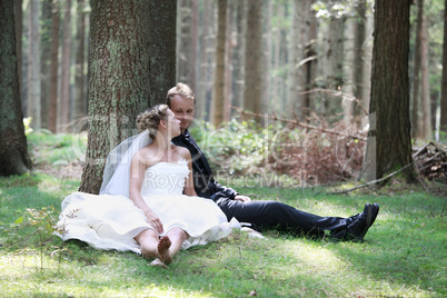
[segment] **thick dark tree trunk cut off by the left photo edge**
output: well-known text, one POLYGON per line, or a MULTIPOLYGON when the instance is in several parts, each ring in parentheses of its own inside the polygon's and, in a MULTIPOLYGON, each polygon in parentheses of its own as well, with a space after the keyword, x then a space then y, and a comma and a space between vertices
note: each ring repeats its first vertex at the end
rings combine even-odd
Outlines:
POLYGON ((0 176, 31 169, 16 57, 14 2, 0 1, 0 176))

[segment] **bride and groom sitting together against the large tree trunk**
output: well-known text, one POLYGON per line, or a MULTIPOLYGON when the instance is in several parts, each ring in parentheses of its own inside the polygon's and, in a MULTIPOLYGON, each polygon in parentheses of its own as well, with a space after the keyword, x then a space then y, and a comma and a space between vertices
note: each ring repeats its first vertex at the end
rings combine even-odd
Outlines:
POLYGON ((74 192, 62 201, 58 222, 63 240, 99 249, 131 250, 166 267, 183 248, 228 236, 239 222, 362 240, 379 206, 367 203, 349 218, 320 217, 278 201, 251 201, 216 181, 205 155, 189 135, 196 98, 178 83, 167 105, 137 117, 140 133, 108 157, 100 195, 74 192))

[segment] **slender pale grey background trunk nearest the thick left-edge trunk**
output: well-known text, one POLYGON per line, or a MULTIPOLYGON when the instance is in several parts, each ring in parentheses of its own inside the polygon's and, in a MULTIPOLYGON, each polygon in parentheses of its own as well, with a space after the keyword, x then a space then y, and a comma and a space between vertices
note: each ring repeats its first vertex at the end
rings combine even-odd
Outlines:
POLYGON ((29 22, 29 88, 28 116, 32 117, 31 127, 40 129, 40 34, 39 34, 39 0, 31 0, 29 22))

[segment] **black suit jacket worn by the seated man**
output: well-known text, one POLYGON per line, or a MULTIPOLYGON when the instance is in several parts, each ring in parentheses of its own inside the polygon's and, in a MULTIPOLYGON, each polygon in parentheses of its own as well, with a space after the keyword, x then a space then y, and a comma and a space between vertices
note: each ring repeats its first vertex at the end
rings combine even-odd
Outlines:
POLYGON ((235 197, 239 195, 239 192, 232 188, 225 187, 215 180, 207 158, 188 130, 185 130, 182 135, 173 138, 172 142, 187 148, 191 153, 193 183, 199 197, 218 201, 220 198, 235 199, 235 197))

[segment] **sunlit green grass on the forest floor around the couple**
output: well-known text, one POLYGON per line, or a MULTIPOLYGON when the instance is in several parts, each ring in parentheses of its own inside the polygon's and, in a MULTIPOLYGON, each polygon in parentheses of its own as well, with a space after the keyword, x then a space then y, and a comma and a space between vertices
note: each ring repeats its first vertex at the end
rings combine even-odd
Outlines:
POLYGON ((160 269, 132 252, 50 235, 61 200, 78 186, 43 173, 0 178, 0 297, 447 296, 446 199, 418 187, 337 196, 328 188, 238 188, 324 216, 347 217, 371 201, 380 213, 361 244, 235 232, 160 269))

